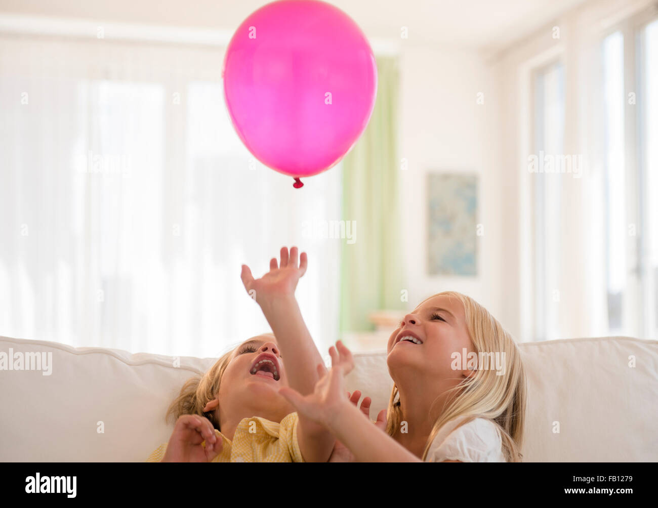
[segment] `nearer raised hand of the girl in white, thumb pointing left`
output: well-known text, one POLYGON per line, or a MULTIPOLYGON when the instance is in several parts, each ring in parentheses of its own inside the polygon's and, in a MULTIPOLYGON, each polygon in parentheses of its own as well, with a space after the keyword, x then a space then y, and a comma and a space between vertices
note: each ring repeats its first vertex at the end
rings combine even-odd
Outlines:
POLYGON ((340 340, 336 342, 336 347, 329 348, 329 354, 332 368, 327 371, 322 363, 318 364, 320 379, 315 384, 313 394, 303 397, 293 388, 286 386, 279 389, 279 393, 300 415, 325 426, 330 426, 332 418, 340 413, 344 405, 349 406, 349 399, 345 399, 345 375, 354 368, 352 353, 340 340))

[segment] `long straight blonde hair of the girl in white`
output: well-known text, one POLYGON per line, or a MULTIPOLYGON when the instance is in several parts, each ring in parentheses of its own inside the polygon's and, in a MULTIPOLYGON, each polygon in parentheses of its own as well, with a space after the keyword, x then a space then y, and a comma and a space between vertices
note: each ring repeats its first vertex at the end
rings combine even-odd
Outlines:
MULTIPOLYGON (((434 422, 422 459, 426 459, 432 441, 447 422, 464 417, 461 422, 463 425, 481 417, 493 420, 497 424, 507 462, 520 462, 527 387, 519 347, 489 311, 474 299, 453 291, 437 293, 430 298, 436 296, 453 297, 461 301, 468 334, 476 353, 504 352, 505 373, 498 376, 495 370, 478 369, 473 376, 465 378, 449 390, 453 393, 434 422)), ((386 432, 393 436, 400 428, 402 420, 399 392, 395 384, 386 416, 388 419, 386 432)))

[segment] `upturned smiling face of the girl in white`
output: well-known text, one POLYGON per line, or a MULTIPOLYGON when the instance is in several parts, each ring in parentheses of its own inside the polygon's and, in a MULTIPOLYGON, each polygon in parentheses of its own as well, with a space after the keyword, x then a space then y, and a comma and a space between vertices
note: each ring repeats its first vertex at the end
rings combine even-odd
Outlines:
POLYGON ((451 355, 475 351, 468 335, 464 307, 454 297, 436 295, 405 315, 388 340, 387 363, 393 380, 396 372, 413 368, 418 376, 455 384, 470 371, 453 370, 451 355))

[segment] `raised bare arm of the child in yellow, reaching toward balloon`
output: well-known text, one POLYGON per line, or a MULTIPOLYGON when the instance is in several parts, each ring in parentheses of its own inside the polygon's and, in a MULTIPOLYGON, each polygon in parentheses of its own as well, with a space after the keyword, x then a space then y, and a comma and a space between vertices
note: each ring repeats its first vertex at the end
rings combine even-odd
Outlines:
MULTIPOLYGON (((286 365, 290 386, 300 394, 311 394, 319 379, 316 365, 322 363, 313 338, 309 333, 299 305, 295 299, 295 288, 307 268, 306 253, 298 249, 282 247, 280 263, 270 261, 270 271, 254 279, 247 265, 242 265, 241 278, 245 289, 261 306, 267 322, 276 336, 281 356, 286 365)), ((299 415, 297 426, 299 448, 307 462, 326 462, 334 448, 334 436, 324 426, 299 415)))

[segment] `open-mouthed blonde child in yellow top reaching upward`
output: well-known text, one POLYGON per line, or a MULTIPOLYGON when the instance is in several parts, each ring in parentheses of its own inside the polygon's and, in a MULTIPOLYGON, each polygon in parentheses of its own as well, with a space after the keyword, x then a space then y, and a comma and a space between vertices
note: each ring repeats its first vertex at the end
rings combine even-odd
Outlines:
POLYGON ((243 265, 241 278, 256 295, 274 334, 253 337, 223 355, 201 377, 188 380, 167 416, 176 426, 152 462, 326 462, 335 439, 282 397, 280 387, 311 393, 321 361, 295 301, 295 288, 307 268, 297 247, 283 247, 280 263, 254 279, 243 265), (299 262, 299 264, 298 264, 299 262), (279 340, 277 340, 279 339, 279 340), (285 359, 285 364, 284 364, 285 359))

